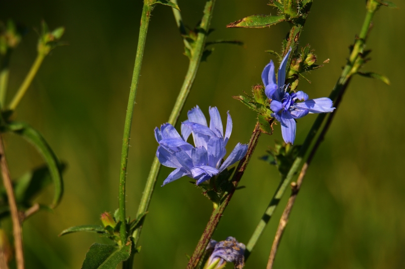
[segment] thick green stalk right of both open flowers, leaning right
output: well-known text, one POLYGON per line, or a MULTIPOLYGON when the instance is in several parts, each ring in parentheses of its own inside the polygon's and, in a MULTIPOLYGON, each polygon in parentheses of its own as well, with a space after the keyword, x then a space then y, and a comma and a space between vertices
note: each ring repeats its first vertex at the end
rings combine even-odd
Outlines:
MULTIPOLYGON (((342 95, 347 88, 351 77, 357 73, 358 71, 358 66, 355 65, 356 60, 358 59, 360 53, 363 52, 364 49, 364 44, 367 39, 367 35, 369 32, 369 29, 371 27, 371 21, 373 19, 373 16, 377 9, 368 9, 368 12, 366 14, 366 19, 363 23, 363 26, 361 28, 361 32, 359 37, 354 43, 353 50, 350 54, 349 60, 344 67, 342 74, 339 77, 339 80, 337 81, 335 87, 333 88, 331 94, 329 95, 329 98, 333 100, 333 102, 340 102, 340 99, 342 98, 342 95)), ((245 259, 249 257, 251 254, 253 248, 255 247, 257 241, 259 240, 261 234, 263 233, 267 223, 270 221, 272 214, 277 207, 280 199, 282 198, 282 195, 285 193, 286 189, 289 186, 289 183, 291 179, 296 175, 298 169, 300 168, 300 165, 302 163, 302 160, 305 156, 305 154, 308 152, 309 149, 311 149, 311 143, 313 139, 316 137, 316 134, 318 133, 323 120, 327 117, 327 114, 319 114, 318 117, 316 118, 315 122, 313 123, 303 145, 301 146, 300 152, 298 156, 296 157, 292 167, 289 170, 289 173, 287 174, 286 178, 282 179, 280 182, 280 185, 276 189, 273 197, 271 198, 271 201, 269 205, 267 206, 263 217, 261 218, 259 224, 257 225, 255 231, 253 232, 248 244, 246 245, 246 252, 245 252, 245 259)))

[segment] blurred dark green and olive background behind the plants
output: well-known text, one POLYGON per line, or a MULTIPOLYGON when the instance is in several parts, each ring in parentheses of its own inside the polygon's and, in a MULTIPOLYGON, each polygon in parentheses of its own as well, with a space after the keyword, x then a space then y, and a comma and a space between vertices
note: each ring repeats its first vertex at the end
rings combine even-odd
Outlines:
MULTIPOLYGON (((383 73, 391 86, 355 77, 338 115, 304 181, 276 257, 275 268, 404 268, 405 267, 405 121, 403 65, 404 3, 381 9, 368 42, 372 61, 365 70, 383 73), (402 93, 401 93, 402 92, 402 93)), ((185 24, 194 27, 203 0, 179 0, 185 24)), ((231 98, 261 83, 262 68, 278 50, 288 24, 265 29, 227 29, 225 25, 253 14, 275 13, 267 1, 218 0, 209 40, 237 39, 244 46, 221 44, 202 63, 180 120, 198 104, 218 106, 223 119, 230 111, 233 133, 228 152, 247 143, 255 114, 231 98)), ((99 224, 103 211, 117 206, 118 173, 129 86, 135 59, 142 1, 58 0, 1 1, 0 19, 29 28, 11 60, 9 99, 36 56, 42 19, 51 29, 65 26, 62 40, 45 62, 16 117, 40 130, 57 155, 68 163, 65 195, 55 213, 40 212, 24 224, 27 268, 79 268, 87 249, 102 239, 94 234, 57 235, 65 228, 99 224)), ((365 1, 315 1, 301 44, 310 43, 318 60, 330 59, 312 72, 300 89, 310 97, 328 96, 359 32, 365 1)), ((157 143, 153 128, 167 121, 187 70, 183 43, 172 11, 158 6, 152 13, 138 89, 128 168, 127 208, 135 217, 157 143)), ((296 143, 302 143, 315 116, 298 122, 296 143)), ((214 234, 247 243, 278 185, 279 175, 259 157, 280 140, 263 135, 241 185, 214 234)), ((35 150, 20 138, 6 136, 13 177, 42 164, 35 150)), ((142 232, 136 268, 183 268, 212 205, 187 179, 159 187, 170 173, 164 168, 142 232)), ((52 187, 48 195, 52 195, 52 187)), ((264 268, 282 207, 260 239, 246 268, 264 268)), ((39 199, 49 199, 47 195, 39 199)), ((231 265, 227 267, 231 268, 231 265)))

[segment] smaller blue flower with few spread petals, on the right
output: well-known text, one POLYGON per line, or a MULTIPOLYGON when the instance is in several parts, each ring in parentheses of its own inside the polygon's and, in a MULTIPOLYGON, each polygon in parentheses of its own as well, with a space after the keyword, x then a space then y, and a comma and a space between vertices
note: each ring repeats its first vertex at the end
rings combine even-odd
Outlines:
POLYGON ((312 113, 332 112, 335 107, 332 107, 332 100, 327 97, 308 100, 308 94, 303 91, 287 92, 288 85, 285 85, 286 67, 290 52, 291 48, 284 59, 282 59, 278 68, 277 84, 275 83, 273 61, 270 61, 263 69, 262 80, 266 87, 264 93, 267 98, 271 99, 270 109, 274 112, 271 114, 271 117, 274 117, 281 123, 282 139, 286 143, 293 144, 296 131, 295 119, 312 113), (304 101, 297 102, 298 100, 304 101))

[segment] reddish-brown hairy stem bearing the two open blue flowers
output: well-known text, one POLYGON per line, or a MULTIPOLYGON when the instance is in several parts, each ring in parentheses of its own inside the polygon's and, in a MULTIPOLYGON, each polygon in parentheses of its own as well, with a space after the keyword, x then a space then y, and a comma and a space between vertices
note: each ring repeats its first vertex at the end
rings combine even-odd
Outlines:
MULTIPOLYGON (((306 18, 309 14, 310 7, 307 9, 307 13, 303 14, 302 20, 300 21, 300 24, 295 24, 290 30, 289 33, 289 38, 287 42, 287 46, 285 51, 282 53, 282 56, 287 55, 287 52, 289 48, 292 48, 292 51, 295 51, 295 49, 298 46, 298 40, 301 35, 302 29, 304 27, 306 18)), ((291 53, 288 63, 291 63, 293 57, 293 53, 291 53)), ((256 148, 256 145, 259 141, 259 137, 261 134, 260 128, 258 127, 259 124, 257 123, 255 126, 255 129, 252 133, 249 146, 248 146, 248 153, 244 158, 242 158, 236 168, 235 174, 232 176, 232 182, 233 182, 233 188, 229 192, 225 192, 224 197, 222 199, 222 202, 219 204, 217 208, 214 209, 214 211, 211 214, 210 220, 207 223, 207 226, 203 232, 203 235, 201 235, 201 238, 199 239, 197 246, 195 247, 194 253, 192 254, 188 264, 187 264, 187 269, 193 269, 195 268, 199 260, 203 257, 205 248, 207 247, 208 243, 210 242, 210 239, 218 226, 218 223, 222 217, 222 213, 224 212, 226 206, 228 205, 230 199, 232 198, 232 195, 234 191, 236 190, 236 187, 245 173, 245 169, 249 164, 250 157, 253 154, 253 151, 256 148)))

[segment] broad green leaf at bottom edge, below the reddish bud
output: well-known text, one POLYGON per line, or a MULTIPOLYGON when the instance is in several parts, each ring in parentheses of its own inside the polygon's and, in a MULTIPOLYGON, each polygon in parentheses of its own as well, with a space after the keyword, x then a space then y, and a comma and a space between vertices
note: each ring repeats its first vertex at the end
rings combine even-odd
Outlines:
POLYGON ((82 269, 115 269, 131 254, 131 241, 123 247, 94 243, 86 253, 82 269))

